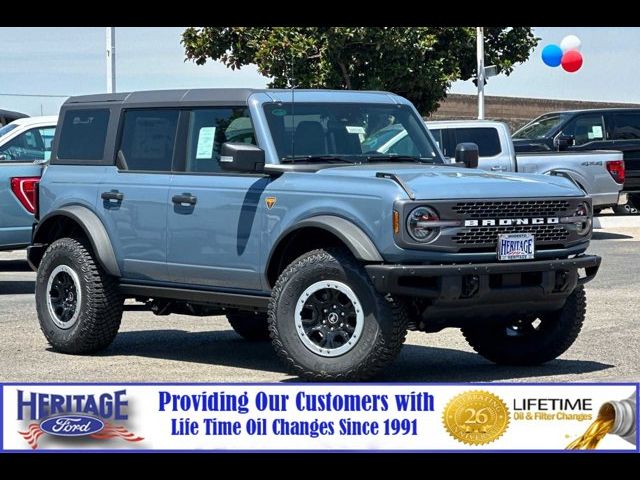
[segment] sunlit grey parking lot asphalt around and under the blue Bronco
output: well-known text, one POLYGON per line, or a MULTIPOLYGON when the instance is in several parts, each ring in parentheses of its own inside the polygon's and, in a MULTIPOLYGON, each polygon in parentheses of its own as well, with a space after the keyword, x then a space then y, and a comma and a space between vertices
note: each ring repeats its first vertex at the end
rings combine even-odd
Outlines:
MULTIPOLYGON (((624 222, 623 222, 624 225, 624 222)), ((587 285, 578 340, 538 367, 496 366, 458 330, 409 332, 384 382, 637 382, 640 380, 640 228, 597 230, 590 248, 603 264, 587 285)), ((224 317, 158 317, 128 303, 104 352, 53 352, 38 327, 33 273, 24 252, 0 253, 0 381, 280 382, 295 380, 267 343, 250 343, 224 317)))

